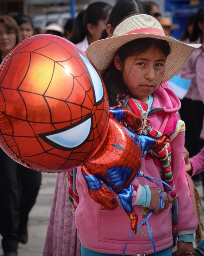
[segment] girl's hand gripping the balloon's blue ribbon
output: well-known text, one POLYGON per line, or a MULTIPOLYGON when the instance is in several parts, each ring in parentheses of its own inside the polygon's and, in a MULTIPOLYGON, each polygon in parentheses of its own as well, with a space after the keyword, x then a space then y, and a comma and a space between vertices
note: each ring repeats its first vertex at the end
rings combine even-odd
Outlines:
MULTIPOLYGON (((170 197, 170 195, 168 195, 167 197, 163 197, 163 202, 164 202, 164 208, 161 208, 161 205, 159 203, 158 208, 155 210, 155 208, 157 207, 157 204, 159 202, 159 192, 157 188, 151 188, 151 201, 150 201, 150 206, 148 207, 151 210, 154 210, 155 213, 159 214, 160 212, 163 212, 165 209, 169 208, 169 203, 171 203, 173 200, 170 197)), ((166 195, 166 192, 162 192, 162 195, 166 195)))

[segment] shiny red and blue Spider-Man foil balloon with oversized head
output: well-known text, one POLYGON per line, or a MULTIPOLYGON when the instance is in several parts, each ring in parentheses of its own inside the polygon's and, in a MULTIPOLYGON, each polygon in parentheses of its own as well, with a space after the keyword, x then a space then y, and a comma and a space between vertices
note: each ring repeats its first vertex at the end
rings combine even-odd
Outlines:
POLYGON ((35 35, 17 45, 1 65, 1 148, 41 172, 82 165, 90 197, 113 210, 118 202, 109 190, 116 192, 134 232, 132 182, 147 149, 161 148, 168 140, 138 136, 122 125, 137 130, 140 121, 122 106, 112 108, 109 118, 100 74, 66 39, 35 35))

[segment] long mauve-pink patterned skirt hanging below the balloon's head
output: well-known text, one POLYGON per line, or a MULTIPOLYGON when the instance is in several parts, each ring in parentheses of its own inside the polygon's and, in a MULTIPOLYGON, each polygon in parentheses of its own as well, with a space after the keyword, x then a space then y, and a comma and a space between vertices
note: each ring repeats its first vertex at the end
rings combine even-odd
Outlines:
POLYGON ((65 173, 57 175, 43 256, 80 256, 81 243, 71 211, 65 173))

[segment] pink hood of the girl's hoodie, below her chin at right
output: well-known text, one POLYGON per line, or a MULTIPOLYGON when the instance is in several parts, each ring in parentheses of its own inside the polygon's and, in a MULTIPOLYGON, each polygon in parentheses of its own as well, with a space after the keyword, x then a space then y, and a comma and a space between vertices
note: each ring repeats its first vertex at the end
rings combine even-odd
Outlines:
POLYGON ((157 90, 153 92, 154 102, 152 110, 155 108, 163 108, 165 112, 176 113, 181 103, 175 93, 167 87, 159 86, 157 90))

